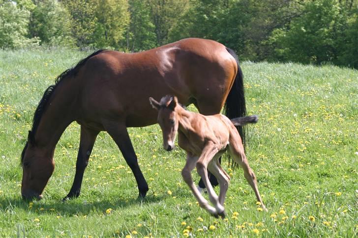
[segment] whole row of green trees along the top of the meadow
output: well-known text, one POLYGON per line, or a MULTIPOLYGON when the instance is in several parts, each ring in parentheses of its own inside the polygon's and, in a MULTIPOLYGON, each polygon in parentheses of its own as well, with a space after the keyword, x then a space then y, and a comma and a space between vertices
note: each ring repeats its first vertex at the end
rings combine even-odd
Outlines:
POLYGON ((139 52, 186 37, 245 60, 358 68, 358 0, 0 0, 0 48, 139 52))

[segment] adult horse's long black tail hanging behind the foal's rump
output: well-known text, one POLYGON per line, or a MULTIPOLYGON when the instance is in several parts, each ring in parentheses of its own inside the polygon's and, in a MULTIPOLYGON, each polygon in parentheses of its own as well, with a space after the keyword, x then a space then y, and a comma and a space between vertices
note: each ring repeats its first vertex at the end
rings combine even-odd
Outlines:
MULTIPOLYGON (((236 74, 235 81, 230 89, 229 95, 226 98, 226 102, 224 105, 224 114, 229 119, 244 117, 246 116, 246 104, 243 88, 243 74, 239 66, 239 58, 233 50, 229 48, 226 48, 226 50, 235 58, 236 63, 238 65, 238 73, 236 74)), ((245 130, 242 127, 243 125, 237 126, 239 134, 241 136, 242 144, 245 148, 245 130)))

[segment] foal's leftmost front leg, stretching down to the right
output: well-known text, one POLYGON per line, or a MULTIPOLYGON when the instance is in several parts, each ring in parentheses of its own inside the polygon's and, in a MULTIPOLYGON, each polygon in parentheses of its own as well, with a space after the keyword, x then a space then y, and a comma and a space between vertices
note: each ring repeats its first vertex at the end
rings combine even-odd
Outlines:
POLYGON ((181 170, 181 176, 183 177, 184 182, 190 187, 196 200, 198 200, 200 207, 204 208, 210 214, 215 216, 216 209, 209 205, 209 202, 203 197, 198 188, 194 185, 193 179, 191 177, 191 171, 195 168, 197 160, 198 157, 193 157, 192 155, 187 154, 185 166, 181 170))

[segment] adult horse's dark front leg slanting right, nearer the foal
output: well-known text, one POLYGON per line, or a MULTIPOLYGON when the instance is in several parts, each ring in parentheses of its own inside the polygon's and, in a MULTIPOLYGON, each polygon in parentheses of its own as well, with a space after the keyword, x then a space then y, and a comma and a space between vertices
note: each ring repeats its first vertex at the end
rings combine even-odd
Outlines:
POLYGON ((139 168, 138 159, 125 124, 119 124, 118 122, 106 123, 105 129, 118 145, 120 152, 134 174, 138 185, 139 198, 144 198, 149 190, 148 184, 139 168))

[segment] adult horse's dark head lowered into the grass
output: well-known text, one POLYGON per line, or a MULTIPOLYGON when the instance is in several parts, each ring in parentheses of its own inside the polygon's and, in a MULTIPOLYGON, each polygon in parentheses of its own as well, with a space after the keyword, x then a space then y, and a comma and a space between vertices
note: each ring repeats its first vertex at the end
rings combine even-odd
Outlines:
POLYGON ((41 199, 42 191, 55 169, 53 152, 36 146, 34 136, 29 132, 28 142, 21 154, 23 178, 21 195, 24 199, 41 199))

